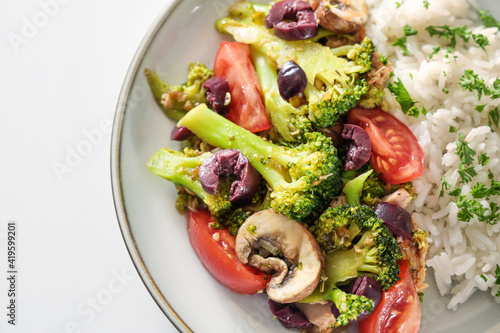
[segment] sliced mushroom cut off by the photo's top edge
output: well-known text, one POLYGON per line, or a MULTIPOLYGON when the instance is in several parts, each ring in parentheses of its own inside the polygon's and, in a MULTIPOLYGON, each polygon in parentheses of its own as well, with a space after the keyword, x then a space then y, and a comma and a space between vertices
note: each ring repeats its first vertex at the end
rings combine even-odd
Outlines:
POLYGON ((357 32, 368 20, 365 0, 309 0, 319 25, 336 33, 357 32))

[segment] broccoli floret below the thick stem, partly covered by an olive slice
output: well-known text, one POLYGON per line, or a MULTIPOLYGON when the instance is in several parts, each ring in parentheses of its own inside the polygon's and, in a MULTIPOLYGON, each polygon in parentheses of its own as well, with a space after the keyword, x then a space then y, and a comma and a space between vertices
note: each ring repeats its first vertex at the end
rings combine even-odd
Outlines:
POLYGON ((201 164, 211 155, 212 153, 207 152, 194 156, 191 151, 185 153, 163 148, 149 160, 148 168, 155 175, 180 187, 176 201, 177 209, 182 210, 183 205, 188 209, 197 208, 199 202, 196 198, 198 198, 217 222, 227 227, 231 234, 236 235, 238 228, 249 217, 249 213, 243 207, 237 207, 229 201, 231 180, 221 181, 215 195, 210 195, 205 192, 198 178, 201 164))

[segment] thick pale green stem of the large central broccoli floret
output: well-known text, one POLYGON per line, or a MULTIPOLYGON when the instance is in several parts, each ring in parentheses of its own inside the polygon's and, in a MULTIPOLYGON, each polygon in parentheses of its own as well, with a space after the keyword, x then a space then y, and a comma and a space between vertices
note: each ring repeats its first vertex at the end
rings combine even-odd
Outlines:
POLYGON ((291 156, 281 153, 279 146, 213 112, 205 104, 189 111, 177 126, 186 126, 200 139, 213 146, 240 150, 271 188, 276 189, 287 181, 286 172, 281 174, 277 171, 279 166, 269 166, 272 161, 268 159, 272 157, 277 164, 286 166, 294 162, 291 156))

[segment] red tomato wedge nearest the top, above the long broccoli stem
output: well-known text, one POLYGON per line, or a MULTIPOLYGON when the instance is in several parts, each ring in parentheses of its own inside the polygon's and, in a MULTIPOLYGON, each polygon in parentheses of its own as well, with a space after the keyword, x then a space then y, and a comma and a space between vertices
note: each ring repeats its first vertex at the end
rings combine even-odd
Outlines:
POLYGON ((253 133, 271 128, 250 46, 221 42, 215 56, 214 76, 224 76, 229 85, 231 105, 227 119, 253 133))

